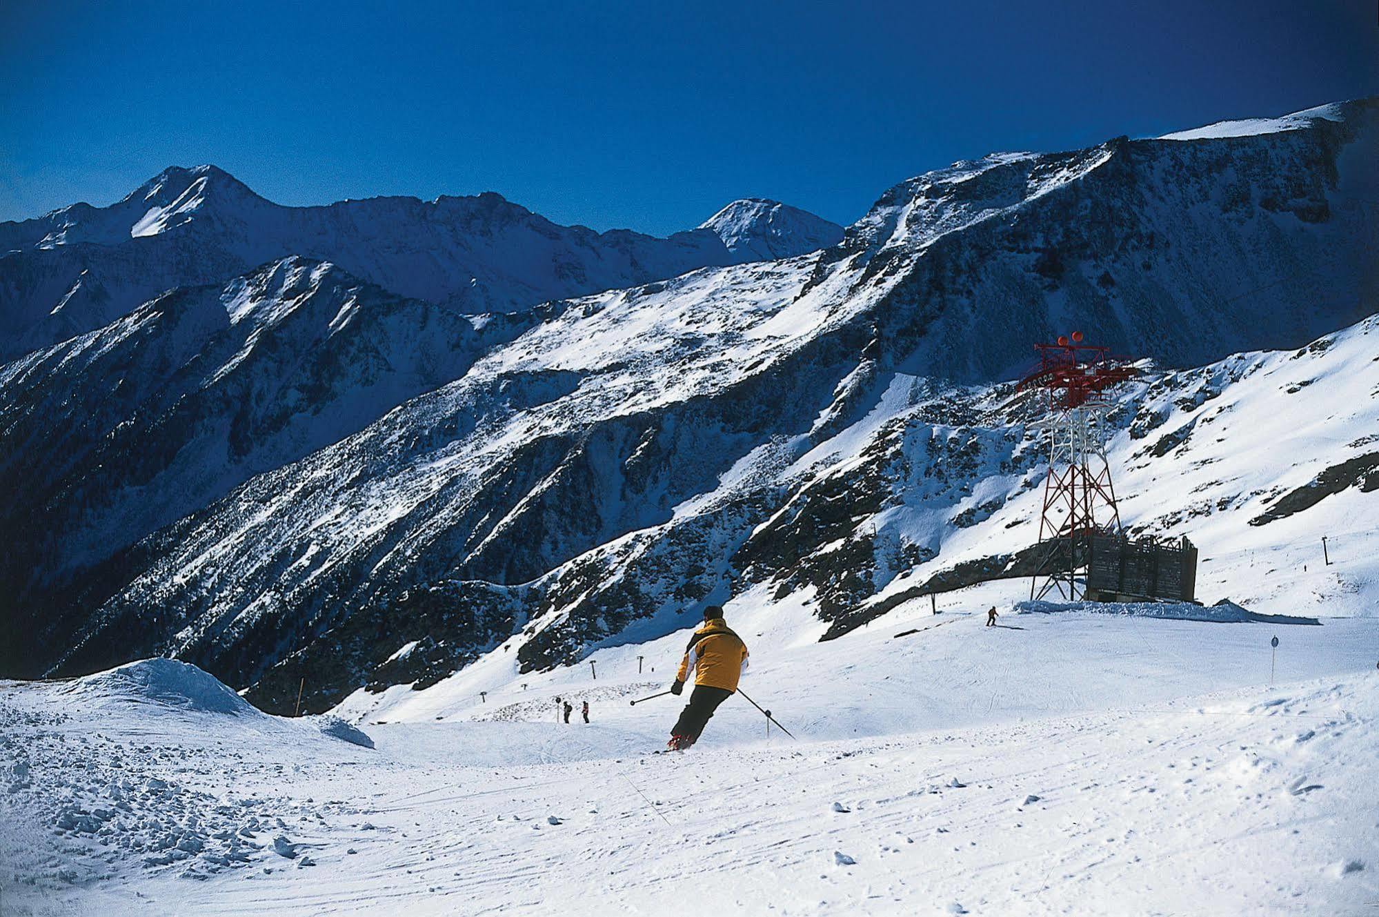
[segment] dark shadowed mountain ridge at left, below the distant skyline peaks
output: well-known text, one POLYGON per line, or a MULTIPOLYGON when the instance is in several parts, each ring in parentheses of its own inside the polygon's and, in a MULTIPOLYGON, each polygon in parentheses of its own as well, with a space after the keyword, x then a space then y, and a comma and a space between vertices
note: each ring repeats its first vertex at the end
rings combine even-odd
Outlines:
MULTIPOLYGON (((285 258, 0 367, 0 528, 29 532, 0 570, 54 582, 108 561, 117 576, 149 532, 458 378, 542 314, 456 314, 285 258)), ((8 669, 23 651, 6 644, 8 669)))

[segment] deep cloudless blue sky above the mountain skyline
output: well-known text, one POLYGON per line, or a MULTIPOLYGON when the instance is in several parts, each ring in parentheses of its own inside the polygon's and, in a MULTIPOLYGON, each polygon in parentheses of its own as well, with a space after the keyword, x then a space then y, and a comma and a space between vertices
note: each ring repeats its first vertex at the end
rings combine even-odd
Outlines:
POLYGON ((1376 92, 1373 0, 0 0, 0 219, 215 163, 285 204, 492 189, 663 234, 765 196, 847 223, 990 150, 1376 92))

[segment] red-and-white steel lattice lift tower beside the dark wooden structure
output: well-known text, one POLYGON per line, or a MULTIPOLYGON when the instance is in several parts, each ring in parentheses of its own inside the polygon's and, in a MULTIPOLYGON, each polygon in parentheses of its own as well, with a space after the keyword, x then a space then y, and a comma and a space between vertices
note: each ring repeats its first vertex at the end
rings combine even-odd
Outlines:
POLYGON ((1135 371, 1107 347, 1083 343, 1083 332, 1058 343, 1037 343, 1038 368, 1019 387, 1043 389, 1048 397, 1048 478, 1040 517, 1038 567, 1030 598, 1056 590, 1066 601, 1087 594, 1094 535, 1121 535, 1111 469, 1106 459, 1106 393, 1135 371))

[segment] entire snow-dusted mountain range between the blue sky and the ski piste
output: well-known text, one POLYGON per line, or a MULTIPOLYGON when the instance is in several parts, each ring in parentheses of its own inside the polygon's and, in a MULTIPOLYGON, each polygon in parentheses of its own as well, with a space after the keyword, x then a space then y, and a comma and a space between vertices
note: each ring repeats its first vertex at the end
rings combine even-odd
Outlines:
POLYGON ((1364 99, 956 163, 845 230, 754 199, 667 240, 496 194, 283 208, 210 167, 0 225, 0 674, 161 652, 319 710, 747 592, 833 637, 1027 572, 1011 379, 1073 328, 1143 359, 1110 447, 1134 531, 1236 598, 1371 601, 1241 558, 1373 518, 1376 154, 1364 99))

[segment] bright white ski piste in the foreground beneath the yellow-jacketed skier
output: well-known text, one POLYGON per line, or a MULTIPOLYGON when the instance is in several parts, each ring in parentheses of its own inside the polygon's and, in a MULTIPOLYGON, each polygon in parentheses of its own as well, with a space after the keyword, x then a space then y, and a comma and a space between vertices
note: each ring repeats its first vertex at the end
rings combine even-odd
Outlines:
POLYGON ((0 683, 0 913, 1379 906, 1379 619, 1016 614, 1025 589, 826 644, 808 596, 743 596, 742 688, 797 739, 732 698, 683 754, 648 754, 680 699, 627 701, 666 688, 687 632, 598 651, 597 680, 390 695, 359 723, 375 749, 225 705, 179 662, 0 683))

